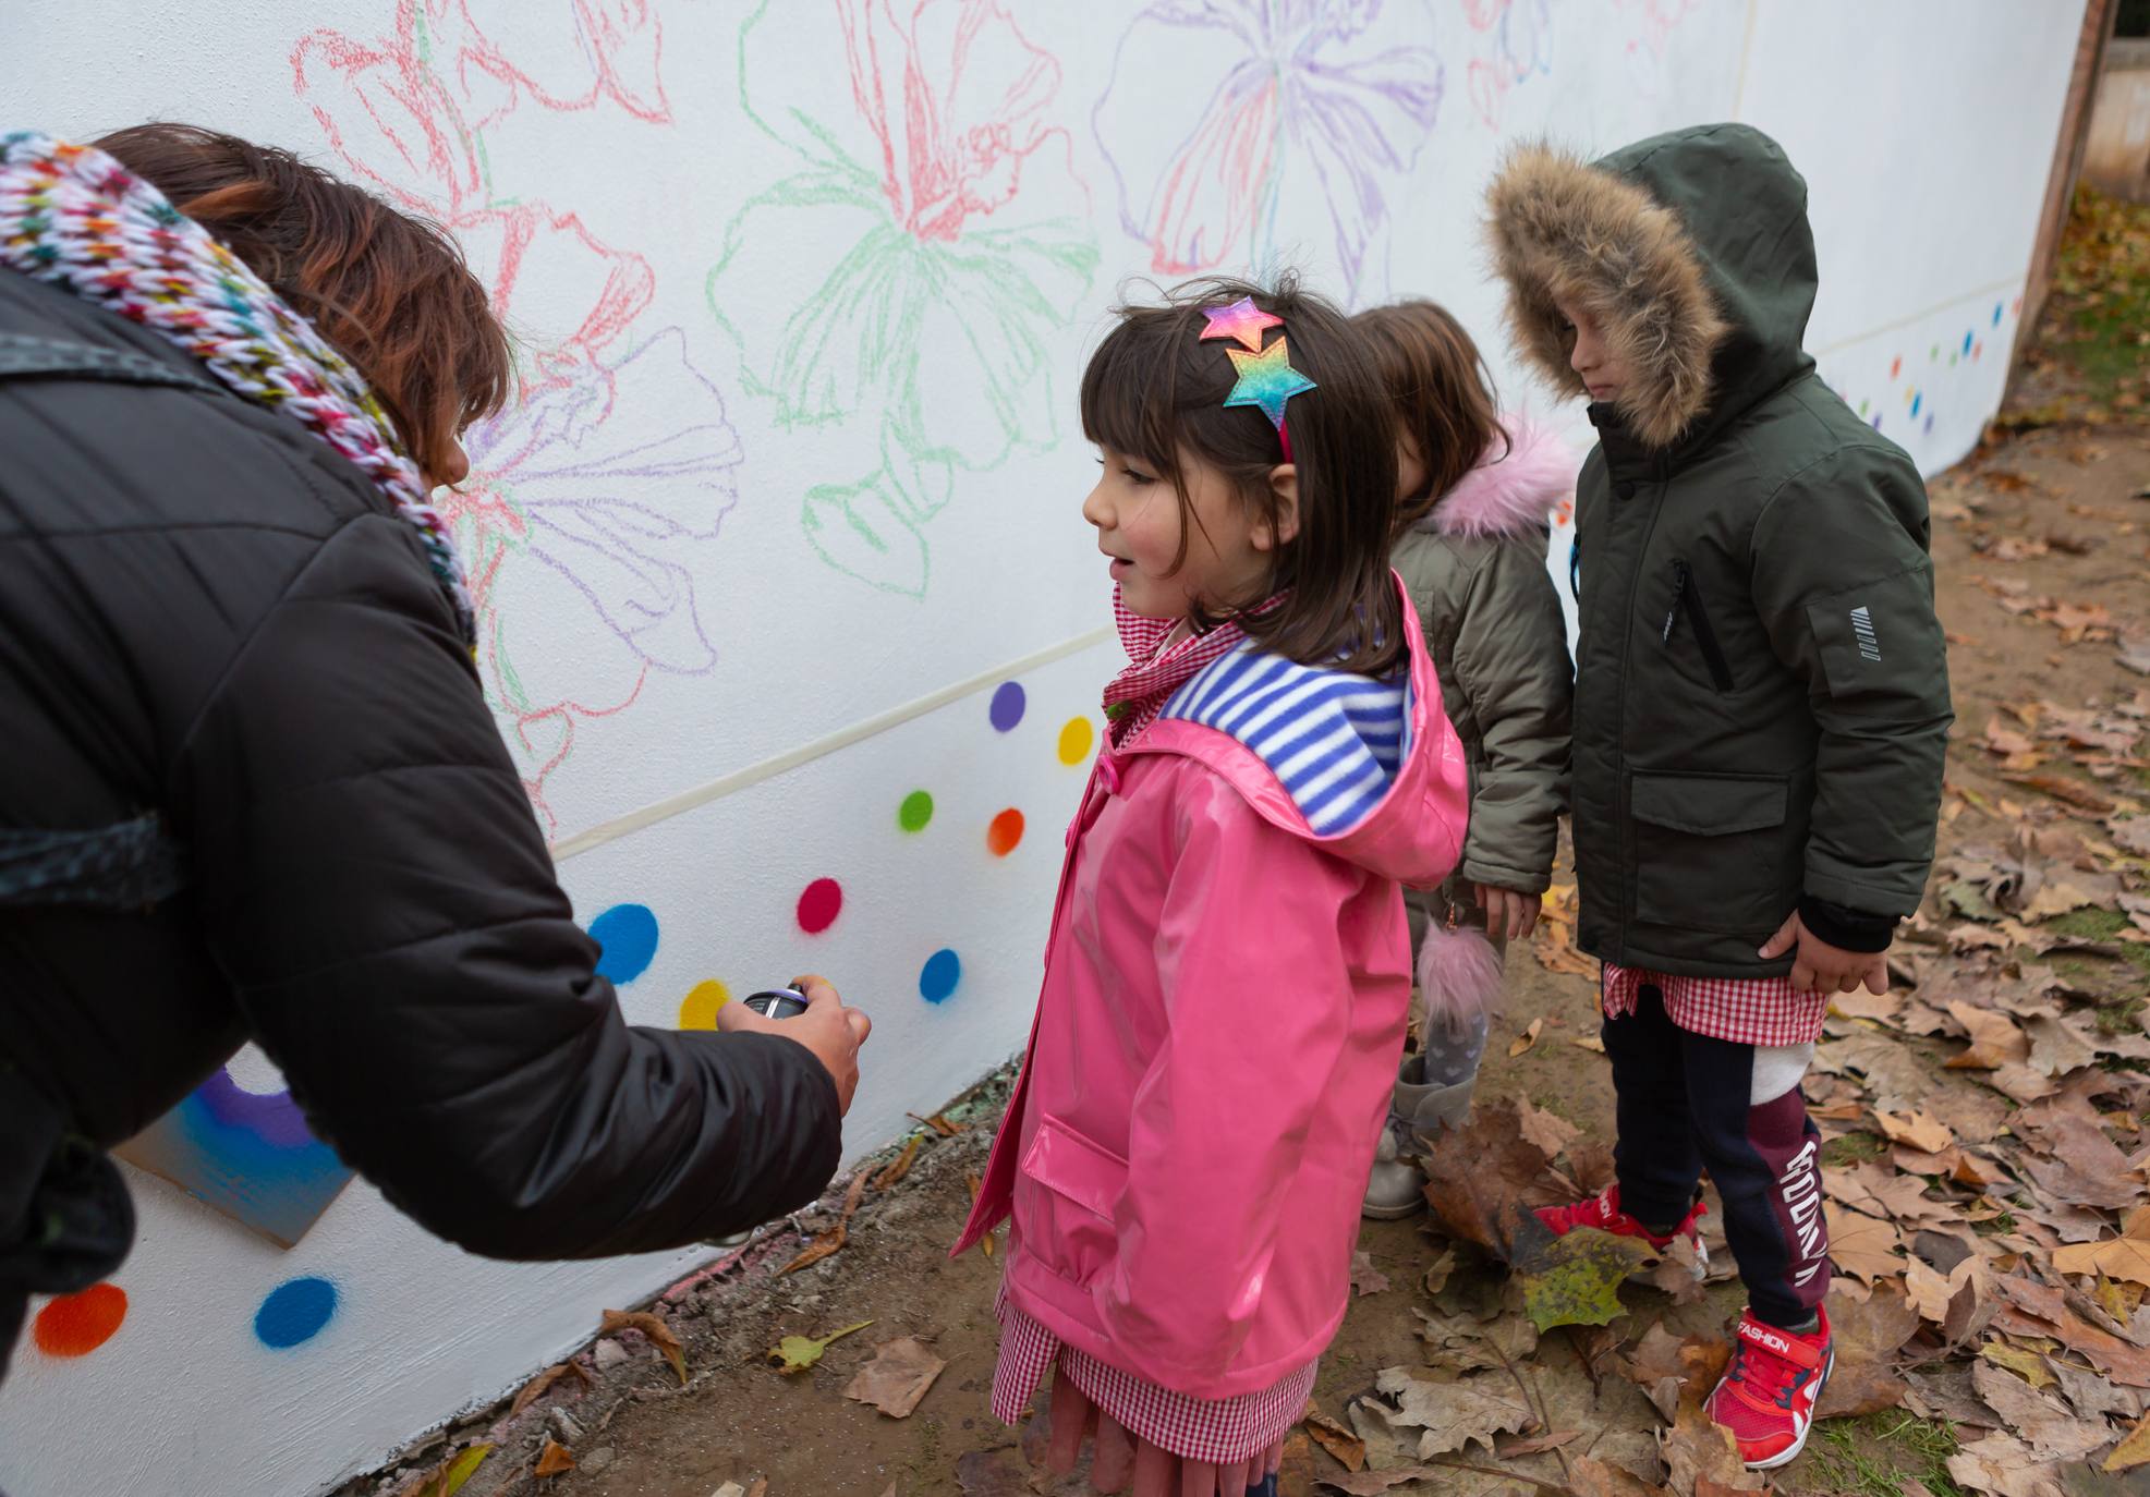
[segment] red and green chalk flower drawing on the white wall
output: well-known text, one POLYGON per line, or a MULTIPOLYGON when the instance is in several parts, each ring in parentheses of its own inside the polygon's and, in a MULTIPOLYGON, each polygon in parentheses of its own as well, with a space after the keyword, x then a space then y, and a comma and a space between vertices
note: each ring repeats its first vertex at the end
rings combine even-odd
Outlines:
POLYGON ((800 170, 731 224, 710 305, 780 424, 864 434, 871 471, 811 488, 802 523, 873 587, 922 598, 957 473, 1054 441, 1049 368, 1099 265, 1058 90, 995 0, 765 0, 740 28, 742 105, 800 170))

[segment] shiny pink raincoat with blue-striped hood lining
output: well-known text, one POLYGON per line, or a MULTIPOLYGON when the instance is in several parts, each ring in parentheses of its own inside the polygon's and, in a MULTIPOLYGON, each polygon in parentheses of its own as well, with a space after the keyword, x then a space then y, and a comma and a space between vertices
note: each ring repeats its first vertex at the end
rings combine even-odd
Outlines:
POLYGON ((1408 598, 1404 637, 1404 740, 1346 830, 1316 832, 1303 759, 1279 779, 1258 751, 1275 736, 1176 708, 1099 757, 1069 828, 1030 1052, 957 1252, 1013 1215, 1008 1303, 1193 1398, 1271 1387, 1344 1318, 1410 1002, 1402 884, 1447 875, 1468 802, 1408 598))

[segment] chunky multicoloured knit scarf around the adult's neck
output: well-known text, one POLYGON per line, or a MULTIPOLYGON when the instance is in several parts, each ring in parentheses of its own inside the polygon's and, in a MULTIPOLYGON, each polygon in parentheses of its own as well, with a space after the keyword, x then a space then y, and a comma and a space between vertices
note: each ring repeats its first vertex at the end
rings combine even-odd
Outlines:
POLYGON ((357 462, 417 527, 475 645, 456 542, 381 402, 312 323, 161 191, 103 151, 34 131, 0 136, 0 265, 163 333, 234 394, 357 462))

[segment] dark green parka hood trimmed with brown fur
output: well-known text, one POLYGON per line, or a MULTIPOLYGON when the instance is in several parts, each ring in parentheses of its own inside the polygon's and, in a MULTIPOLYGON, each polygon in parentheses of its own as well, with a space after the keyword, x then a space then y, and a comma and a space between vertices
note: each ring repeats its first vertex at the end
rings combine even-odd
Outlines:
POLYGON ((1817 284, 1806 179, 1750 125, 1681 129, 1595 163, 1522 146, 1486 204, 1518 348, 1580 394, 1559 303, 1587 308, 1634 370, 1612 407, 1647 447, 1698 437, 1812 363, 1800 348, 1817 284))

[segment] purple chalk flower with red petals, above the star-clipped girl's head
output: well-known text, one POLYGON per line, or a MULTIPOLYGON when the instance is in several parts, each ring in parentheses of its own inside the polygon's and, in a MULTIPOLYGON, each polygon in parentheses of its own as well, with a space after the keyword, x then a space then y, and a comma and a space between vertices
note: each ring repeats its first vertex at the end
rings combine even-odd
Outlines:
POLYGON ((1382 243, 1389 194, 1440 110, 1423 4, 1382 0, 1157 0, 1120 39, 1092 114, 1120 224, 1159 275, 1273 273, 1316 232, 1346 295, 1382 243), (1279 219, 1294 228, 1279 230, 1279 219))

